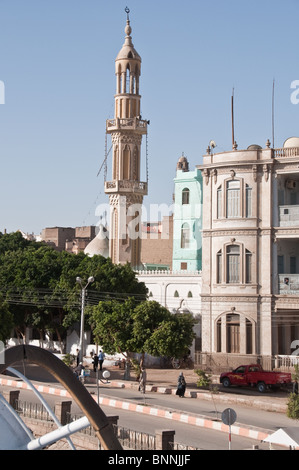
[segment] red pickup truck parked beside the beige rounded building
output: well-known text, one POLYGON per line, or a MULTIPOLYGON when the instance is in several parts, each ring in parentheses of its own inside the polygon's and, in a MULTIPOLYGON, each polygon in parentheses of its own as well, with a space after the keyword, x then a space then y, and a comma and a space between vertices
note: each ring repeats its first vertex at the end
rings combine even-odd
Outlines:
POLYGON ((224 387, 231 385, 256 386, 263 393, 267 388, 278 388, 281 385, 291 384, 292 376, 288 372, 268 372, 259 364, 239 366, 232 372, 224 372, 220 375, 220 383, 224 387))

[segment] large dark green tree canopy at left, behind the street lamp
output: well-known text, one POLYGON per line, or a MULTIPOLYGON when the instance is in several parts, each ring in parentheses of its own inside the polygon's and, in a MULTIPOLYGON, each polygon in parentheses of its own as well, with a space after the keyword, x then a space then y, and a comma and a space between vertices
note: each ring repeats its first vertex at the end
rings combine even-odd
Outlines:
POLYGON ((0 293, 9 303, 14 328, 24 339, 27 326, 56 333, 61 342, 67 328, 80 320, 80 286, 93 276, 87 304, 100 299, 146 298, 144 283, 129 265, 114 265, 102 256, 58 252, 43 243, 25 240, 21 233, 0 233, 0 293))

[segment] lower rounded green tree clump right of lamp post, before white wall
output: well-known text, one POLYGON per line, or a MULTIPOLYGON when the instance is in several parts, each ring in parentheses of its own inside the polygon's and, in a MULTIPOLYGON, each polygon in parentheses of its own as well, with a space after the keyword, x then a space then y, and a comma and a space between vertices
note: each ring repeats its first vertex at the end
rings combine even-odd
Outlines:
POLYGON ((191 315, 173 315, 155 301, 100 302, 88 310, 98 344, 113 354, 183 357, 195 337, 191 315))

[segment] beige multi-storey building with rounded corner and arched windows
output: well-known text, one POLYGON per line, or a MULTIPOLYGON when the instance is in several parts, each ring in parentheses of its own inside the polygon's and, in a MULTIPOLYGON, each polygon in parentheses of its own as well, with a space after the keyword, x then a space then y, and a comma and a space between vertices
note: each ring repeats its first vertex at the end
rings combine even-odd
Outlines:
MULTIPOLYGON (((299 145, 298 145, 299 147, 299 145)), ((299 148, 203 157, 202 351, 292 355, 299 343, 299 148)))

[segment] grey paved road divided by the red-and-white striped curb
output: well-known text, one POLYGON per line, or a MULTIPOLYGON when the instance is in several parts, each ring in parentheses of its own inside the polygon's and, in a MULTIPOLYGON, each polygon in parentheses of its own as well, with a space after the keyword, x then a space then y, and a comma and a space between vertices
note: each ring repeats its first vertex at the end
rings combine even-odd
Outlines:
MULTIPOLYGON (((48 377, 43 377, 46 380, 48 377)), ((49 382, 49 381, 48 381, 49 382)), ((3 387, 2 387, 3 388, 3 387)), ((97 394, 95 386, 88 386, 89 391, 97 394)), ((100 386, 100 396, 115 397, 121 400, 130 400, 143 404, 144 401, 149 406, 161 406, 173 410, 184 410, 189 413, 196 413, 206 415, 210 418, 220 417, 221 412, 227 408, 226 404, 214 401, 206 401, 195 398, 179 399, 173 395, 163 395, 159 393, 146 393, 143 397, 138 391, 131 389, 120 389, 116 387, 100 386)), ((32 392, 21 391, 21 399, 32 400, 32 392), (27 394, 27 395, 26 395, 27 394), (30 394, 30 395, 28 395, 30 394)), ((57 402, 57 397, 51 395, 46 396, 49 404, 54 405, 57 402)), ((289 420, 283 413, 273 413, 262 410, 252 409, 246 406, 230 405, 237 412, 237 421, 243 424, 250 424, 252 426, 264 427, 267 429, 278 429, 282 426, 294 425, 292 420, 289 420)), ((139 430, 154 434, 156 429, 175 429, 177 442, 187 445, 199 447, 201 449, 215 450, 228 448, 228 434, 219 431, 212 431, 197 426, 186 425, 184 423, 169 421, 157 417, 144 416, 139 413, 128 412, 111 407, 102 406, 103 410, 108 415, 118 415, 120 417, 119 424, 131 429, 139 430)), ((74 404, 72 412, 78 412, 77 406, 74 404)), ((259 445, 262 449, 267 449, 266 444, 261 444, 259 441, 241 438, 239 436, 232 437, 232 448, 245 449, 251 448, 253 444, 259 445)))

